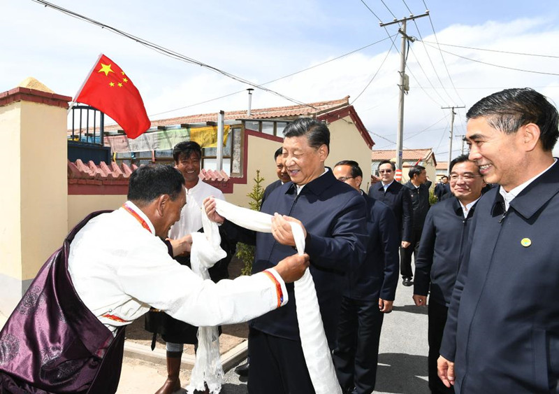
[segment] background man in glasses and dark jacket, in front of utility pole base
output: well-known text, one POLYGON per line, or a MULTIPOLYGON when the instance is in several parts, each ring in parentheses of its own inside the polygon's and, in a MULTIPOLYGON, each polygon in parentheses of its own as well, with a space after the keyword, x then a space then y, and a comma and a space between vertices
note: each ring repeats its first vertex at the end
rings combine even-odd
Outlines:
MULTIPOLYGON (((412 241, 412 199, 405 192, 404 185, 394 180, 396 165, 390 160, 379 163, 381 181, 369 188, 369 197, 388 205, 396 218, 400 234, 400 255, 409 248, 412 241)), ((411 280, 411 278, 409 279, 411 280)), ((411 282, 405 281, 406 286, 411 282)))

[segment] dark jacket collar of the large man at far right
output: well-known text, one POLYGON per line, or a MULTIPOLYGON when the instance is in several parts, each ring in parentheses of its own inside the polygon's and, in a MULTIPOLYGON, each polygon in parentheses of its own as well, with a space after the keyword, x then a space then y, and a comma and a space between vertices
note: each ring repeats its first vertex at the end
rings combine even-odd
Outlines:
MULTIPOLYGON (((504 212, 504 199, 495 187, 493 216, 504 212)), ((539 209, 559 192, 559 160, 548 171, 536 178, 521 193, 512 199, 510 206, 525 219, 531 218, 539 209)))

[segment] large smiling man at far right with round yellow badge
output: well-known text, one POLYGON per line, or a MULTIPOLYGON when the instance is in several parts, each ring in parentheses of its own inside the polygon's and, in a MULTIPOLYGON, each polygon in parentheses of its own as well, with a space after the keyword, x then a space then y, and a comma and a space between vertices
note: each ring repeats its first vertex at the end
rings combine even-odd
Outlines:
POLYGON ((466 114, 470 160, 498 183, 476 206, 453 290, 439 376, 457 393, 558 393, 558 112, 507 89, 466 114))

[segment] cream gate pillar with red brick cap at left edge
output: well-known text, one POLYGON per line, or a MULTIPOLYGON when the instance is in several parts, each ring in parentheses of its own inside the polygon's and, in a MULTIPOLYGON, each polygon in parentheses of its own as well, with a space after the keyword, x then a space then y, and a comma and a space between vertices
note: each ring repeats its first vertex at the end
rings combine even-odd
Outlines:
POLYGON ((27 87, 0 93, 0 312, 4 316, 13 311, 68 230, 68 101, 71 97, 27 87))

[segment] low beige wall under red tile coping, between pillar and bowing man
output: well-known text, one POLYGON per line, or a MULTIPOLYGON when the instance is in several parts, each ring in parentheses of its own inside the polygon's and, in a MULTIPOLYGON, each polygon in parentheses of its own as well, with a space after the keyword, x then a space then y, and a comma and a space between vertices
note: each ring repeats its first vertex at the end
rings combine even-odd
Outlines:
POLYGON ((118 209, 126 195, 68 195, 68 231, 94 211, 118 209))

